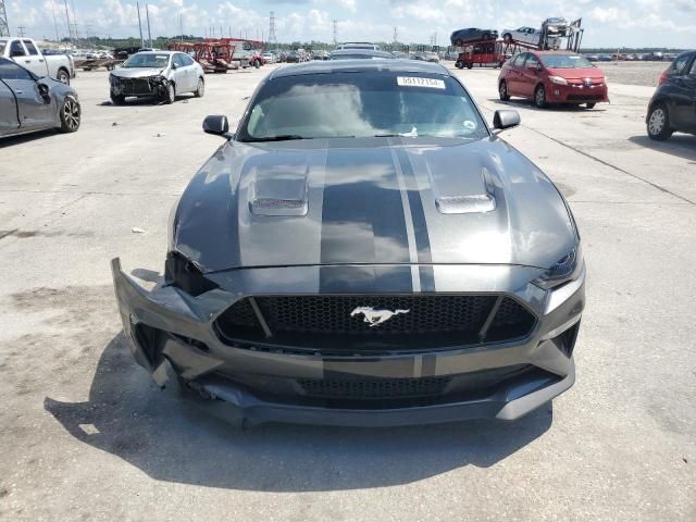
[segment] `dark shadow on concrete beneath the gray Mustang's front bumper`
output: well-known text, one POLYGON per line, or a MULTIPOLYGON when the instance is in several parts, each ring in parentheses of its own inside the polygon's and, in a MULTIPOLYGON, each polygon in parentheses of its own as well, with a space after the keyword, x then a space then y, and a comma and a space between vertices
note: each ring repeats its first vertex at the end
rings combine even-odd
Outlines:
POLYGON ((244 490, 315 492, 407 484, 464 465, 487 468, 544 434, 550 403, 512 422, 340 428, 265 424, 239 431, 160 391, 123 333, 105 347, 89 399, 45 399, 78 440, 167 482, 244 490))

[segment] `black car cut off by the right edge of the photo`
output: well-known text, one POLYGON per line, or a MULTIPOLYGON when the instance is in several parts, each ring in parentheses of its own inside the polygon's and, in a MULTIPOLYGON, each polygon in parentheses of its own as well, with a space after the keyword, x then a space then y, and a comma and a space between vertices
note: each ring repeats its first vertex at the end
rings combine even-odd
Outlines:
POLYGON ((662 73, 645 119, 648 136, 663 140, 674 132, 696 134, 696 50, 678 55, 662 73))

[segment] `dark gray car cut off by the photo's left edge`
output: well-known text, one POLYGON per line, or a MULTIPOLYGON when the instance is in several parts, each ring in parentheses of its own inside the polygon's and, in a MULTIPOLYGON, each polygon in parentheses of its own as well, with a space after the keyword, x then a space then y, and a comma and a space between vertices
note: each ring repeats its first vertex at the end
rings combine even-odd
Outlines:
POLYGON ((74 133, 80 121, 74 88, 0 58, 0 137, 48 128, 74 133))

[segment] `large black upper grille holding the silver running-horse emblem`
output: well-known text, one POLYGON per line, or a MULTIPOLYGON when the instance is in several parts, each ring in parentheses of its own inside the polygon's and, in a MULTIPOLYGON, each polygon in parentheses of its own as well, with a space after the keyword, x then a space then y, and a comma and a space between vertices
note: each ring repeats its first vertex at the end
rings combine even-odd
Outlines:
POLYGON ((484 328, 498 299, 496 295, 244 298, 220 315, 216 330, 224 341, 236 345, 252 343, 336 351, 463 346, 529 335, 535 316, 509 297, 500 298, 488 328, 484 328), (271 336, 264 335, 252 299, 271 336), (361 308, 377 311, 376 316, 361 308), (395 314, 380 322, 380 310, 395 314))

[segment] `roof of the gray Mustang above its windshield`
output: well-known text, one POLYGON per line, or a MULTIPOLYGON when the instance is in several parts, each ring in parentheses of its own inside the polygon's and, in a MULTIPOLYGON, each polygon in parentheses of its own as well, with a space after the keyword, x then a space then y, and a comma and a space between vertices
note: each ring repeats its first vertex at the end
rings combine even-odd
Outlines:
POLYGON ((284 76, 299 76, 301 74, 347 73, 387 71, 393 73, 432 73, 451 76, 442 65, 417 60, 373 59, 373 60, 336 60, 322 62, 306 62, 297 65, 286 65, 271 73, 272 78, 284 76))

